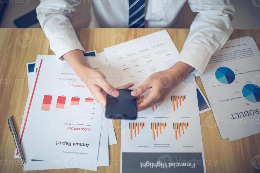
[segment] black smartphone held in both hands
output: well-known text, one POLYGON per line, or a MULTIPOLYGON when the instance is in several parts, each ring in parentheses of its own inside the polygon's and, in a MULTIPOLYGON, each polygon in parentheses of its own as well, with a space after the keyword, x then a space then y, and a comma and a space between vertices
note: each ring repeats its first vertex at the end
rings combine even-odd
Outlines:
POLYGON ((131 119, 137 118, 136 97, 131 95, 131 89, 117 89, 118 97, 107 95, 106 117, 113 119, 131 119))

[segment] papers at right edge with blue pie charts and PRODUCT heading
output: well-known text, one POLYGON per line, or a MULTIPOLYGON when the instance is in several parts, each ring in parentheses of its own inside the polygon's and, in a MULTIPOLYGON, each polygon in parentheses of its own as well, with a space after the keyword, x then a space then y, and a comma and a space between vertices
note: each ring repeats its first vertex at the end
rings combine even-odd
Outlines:
POLYGON ((229 40, 201 80, 222 139, 260 132, 260 52, 253 38, 229 40))

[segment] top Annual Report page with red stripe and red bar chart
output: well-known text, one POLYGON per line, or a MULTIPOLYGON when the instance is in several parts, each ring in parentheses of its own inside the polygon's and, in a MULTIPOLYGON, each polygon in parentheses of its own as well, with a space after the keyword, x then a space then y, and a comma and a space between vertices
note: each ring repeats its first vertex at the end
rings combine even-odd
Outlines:
MULTIPOLYGON (((24 113, 21 145, 29 160, 66 164, 73 155, 77 167, 86 166, 84 158, 97 160, 103 108, 66 62, 58 64, 41 60, 24 113)), ((108 72, 109 66, 91 65, 108 72)))

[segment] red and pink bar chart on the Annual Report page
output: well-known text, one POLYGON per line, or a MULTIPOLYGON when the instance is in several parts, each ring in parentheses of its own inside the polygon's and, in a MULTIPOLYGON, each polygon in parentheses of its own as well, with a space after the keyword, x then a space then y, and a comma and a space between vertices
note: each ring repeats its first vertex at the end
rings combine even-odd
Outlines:
MULTIPOLYGON (((42 101, 41 110, 43 111, 50 111, 51 103, 55 104, 55 108, 57 109, 64 109, 65 104, 67 106, 79 106, 81 103, 94 103, 93 98, 80 98, 80 97, 68 97, 68 96, 54 96, 54 95, 44 95, 42 101), (56 100, 57 99, 57 100, 56 100), (68 103, 66 103, 66 100, 68 103)), ((87 106, 85 106, 87 107, 87 106)))

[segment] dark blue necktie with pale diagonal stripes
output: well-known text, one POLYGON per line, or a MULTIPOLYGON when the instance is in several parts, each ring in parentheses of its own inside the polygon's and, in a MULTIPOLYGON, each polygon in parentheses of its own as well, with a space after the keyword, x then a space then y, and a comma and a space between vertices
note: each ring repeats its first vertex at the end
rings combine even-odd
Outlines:
POLYGON ((129 28, 145 27, 145 0, 129 0, 129 28))

